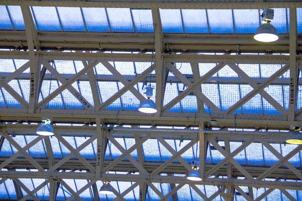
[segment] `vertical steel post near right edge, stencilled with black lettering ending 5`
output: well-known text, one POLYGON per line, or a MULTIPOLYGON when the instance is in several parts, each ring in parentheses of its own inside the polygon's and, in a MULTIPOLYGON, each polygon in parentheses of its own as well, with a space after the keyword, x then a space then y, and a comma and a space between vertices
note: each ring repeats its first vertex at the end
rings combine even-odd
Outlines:
POLYGON ((298 68, 296 65, 296 41, 297 41, 297 14, 296 8, 289 9, 289 66, 290 66, 290 85, 289 85, 289 113, 288 121, 294 121, 297 87, 298 87, 298 68))

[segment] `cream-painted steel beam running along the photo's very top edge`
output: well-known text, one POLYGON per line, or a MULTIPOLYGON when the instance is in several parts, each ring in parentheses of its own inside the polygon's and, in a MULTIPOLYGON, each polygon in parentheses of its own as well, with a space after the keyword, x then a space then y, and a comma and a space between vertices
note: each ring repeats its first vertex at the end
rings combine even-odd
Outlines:
POLYGON ((78 2, 76 0, 41 0, 41 1, 9 1, 3 0, 0 5, 12 5, 12 6, 57 6, 57 7, 108 7, 108 8, 132 8, 132 9, 150 9, 150 8, 161 8, 161 9, 269 9, 269 8, 286 8, 286 7, 302 7, 302 3, 299 2, 288 2, 284 0, 278 0, 274 2, 260 2, 255 0, 248 1, 237 1, 237 2, 225 2, 222 0, 215 2, 208 2, 201 0, 198 3, 194 0, 183 2, 176 0, 171 4, 171 1, 104 1, 98 0, 93 2, 78 2))

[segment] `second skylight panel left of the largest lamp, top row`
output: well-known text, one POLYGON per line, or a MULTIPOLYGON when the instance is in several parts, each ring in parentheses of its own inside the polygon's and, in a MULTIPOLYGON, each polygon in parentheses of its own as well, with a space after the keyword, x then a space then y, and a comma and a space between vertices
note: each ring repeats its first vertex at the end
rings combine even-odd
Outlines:
POLYGON ((207 10, 211 34, 234 34, 232 10, 207 10))

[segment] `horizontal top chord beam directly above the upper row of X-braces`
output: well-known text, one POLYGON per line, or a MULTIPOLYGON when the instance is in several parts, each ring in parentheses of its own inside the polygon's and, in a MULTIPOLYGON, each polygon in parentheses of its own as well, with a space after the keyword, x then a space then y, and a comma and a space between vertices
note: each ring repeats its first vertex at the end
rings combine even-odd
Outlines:
MULTIPOLYGON (((91 60, 91 61, 137 61, 151 62, 152 54, 127 54, 127 53, 102 53, 102 52, 62 52, 62 51, 35 51, 42 60, 91 60)), ((166 54, 162 56, 165 62, 183 62, 192 61, 198 63, 244 63, 244 64, 289 64, 287 55, 208 55, 208 54, 166 54)), ((302 56, 296 56, 301 60, 302 56)), ((29 55, 24 51, 0 51, 0 59, 29 59, 29 55)))

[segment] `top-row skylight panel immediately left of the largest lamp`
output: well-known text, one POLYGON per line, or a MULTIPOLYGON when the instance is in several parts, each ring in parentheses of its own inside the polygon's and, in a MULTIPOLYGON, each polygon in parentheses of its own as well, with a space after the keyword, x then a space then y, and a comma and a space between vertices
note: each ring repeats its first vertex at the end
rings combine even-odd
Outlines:
POLYGON ((254 34, 259 24, 258 10, 233 10, 236 34, 254 34))

